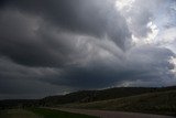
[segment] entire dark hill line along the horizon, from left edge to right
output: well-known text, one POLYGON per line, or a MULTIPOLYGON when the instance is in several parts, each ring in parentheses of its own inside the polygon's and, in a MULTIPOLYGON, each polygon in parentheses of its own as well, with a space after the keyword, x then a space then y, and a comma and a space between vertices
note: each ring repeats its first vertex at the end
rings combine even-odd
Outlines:
POLYGON ((7 99, 0 100, 0 109, 23 107, 55 107, 66 104, 81 104, 124 98, 142 94, 176 90, 173 87, 117 87, 102 90, 80 90, 66 95, 48 96, 42 99, 7 99))

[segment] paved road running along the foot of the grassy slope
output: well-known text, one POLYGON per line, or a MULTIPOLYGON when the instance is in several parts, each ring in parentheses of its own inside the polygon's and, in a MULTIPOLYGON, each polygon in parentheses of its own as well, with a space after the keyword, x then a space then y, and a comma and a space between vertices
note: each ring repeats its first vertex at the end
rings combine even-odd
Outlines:
POLYGON ((100 118, 176 118, 170 116, 148 115, 138 112, 107 111, 107 110, 86 110, 86 109, 58 109, 63 111, 98 116, 100 118))

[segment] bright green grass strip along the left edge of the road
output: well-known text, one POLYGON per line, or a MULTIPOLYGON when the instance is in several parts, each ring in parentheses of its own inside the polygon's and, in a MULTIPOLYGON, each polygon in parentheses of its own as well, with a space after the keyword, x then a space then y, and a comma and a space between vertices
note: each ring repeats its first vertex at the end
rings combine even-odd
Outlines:
POLYGON ((33 108, 30 110, 38 116, 43 116, 44 118, 97 118, 88 115, 73 114, 73 112, 45 109, 45 108, 33 108))

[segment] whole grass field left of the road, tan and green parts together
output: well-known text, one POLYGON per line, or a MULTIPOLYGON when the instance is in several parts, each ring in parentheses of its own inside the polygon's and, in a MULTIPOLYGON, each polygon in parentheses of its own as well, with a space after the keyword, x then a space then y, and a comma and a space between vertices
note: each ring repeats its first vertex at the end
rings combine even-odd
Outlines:
POLYGON ((9 109, 0 112, 0 118, 97 118, 87 115, 72 114, 59 110, 32 108, 32 109, 9 109))

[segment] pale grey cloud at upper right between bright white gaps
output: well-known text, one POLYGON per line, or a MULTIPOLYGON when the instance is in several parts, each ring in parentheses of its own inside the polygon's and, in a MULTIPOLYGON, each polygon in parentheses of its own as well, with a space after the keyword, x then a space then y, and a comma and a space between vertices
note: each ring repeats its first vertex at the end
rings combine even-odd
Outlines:
POLYGON ((156 15, 161 14, 166 3, 167 1, 165 0, 134 0, 130 7, 124 8, 120 12, 129 22, 132 34, 142 40, 152 32, 151 26, 147 26, 147 24, 155 22, 156 15))

